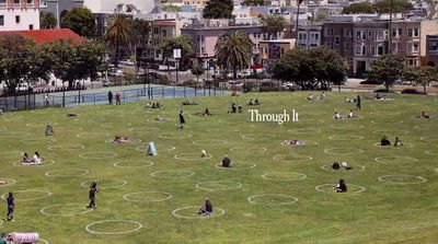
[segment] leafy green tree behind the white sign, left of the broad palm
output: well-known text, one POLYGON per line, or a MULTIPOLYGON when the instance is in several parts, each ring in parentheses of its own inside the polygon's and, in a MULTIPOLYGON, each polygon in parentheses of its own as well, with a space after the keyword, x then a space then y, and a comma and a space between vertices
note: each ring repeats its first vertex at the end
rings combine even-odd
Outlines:
POLYGON ((184 69, 189 65, 191 58, 194 54, 193 39, 187 35, 181 35, 174 38, 166 38, 160 46, 163 54, 163 61, 169 61, 173 57, 173 49, 181 49, 180 65, 184 69))

